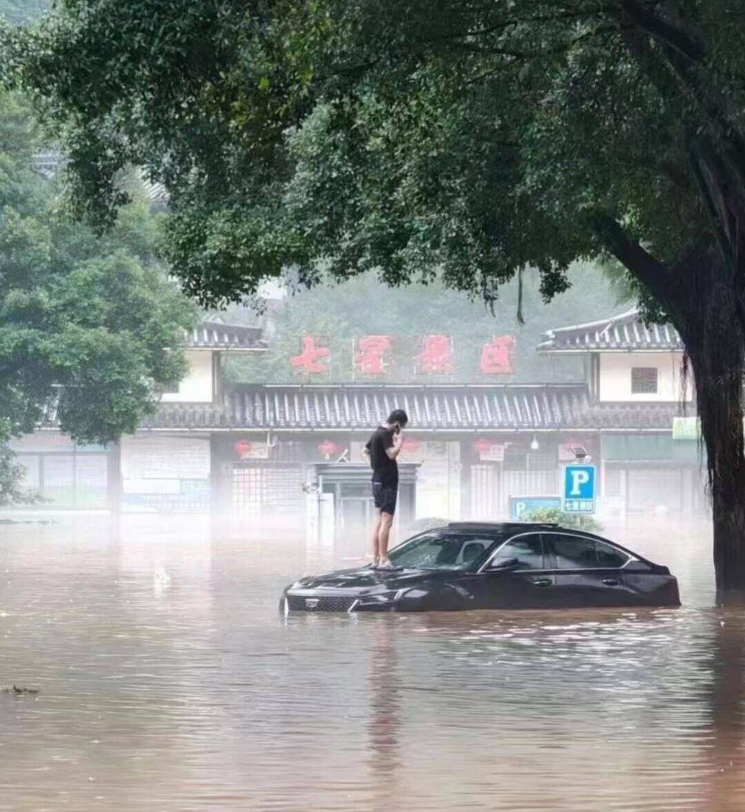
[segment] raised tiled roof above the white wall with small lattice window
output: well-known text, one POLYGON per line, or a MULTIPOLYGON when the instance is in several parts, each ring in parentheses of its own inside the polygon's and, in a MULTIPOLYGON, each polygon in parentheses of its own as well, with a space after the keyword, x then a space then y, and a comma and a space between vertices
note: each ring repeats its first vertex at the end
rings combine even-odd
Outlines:
POLYGON ((643 351, 665 352, 683 351, 683 342, 678 331, 670 324, 645 325, 639 318, 638 310, 630 310, 620 316, 604 319, 602 322, 579 324, 549 330, 538 345, 539 352, 596 352, 643 351))

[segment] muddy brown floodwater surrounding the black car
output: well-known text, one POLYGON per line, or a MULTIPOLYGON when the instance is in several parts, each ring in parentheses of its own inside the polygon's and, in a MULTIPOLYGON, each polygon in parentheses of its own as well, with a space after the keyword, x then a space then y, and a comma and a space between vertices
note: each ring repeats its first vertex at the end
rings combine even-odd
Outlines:
POLYGON ((745 614, 708 527, 606 533, 684 607, 285 619, 364 542, 0 525, 0 685, 40 691, 0 693, 0 810, 742 812, 745 614))

